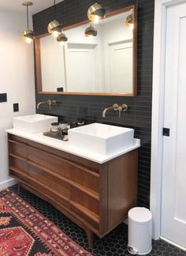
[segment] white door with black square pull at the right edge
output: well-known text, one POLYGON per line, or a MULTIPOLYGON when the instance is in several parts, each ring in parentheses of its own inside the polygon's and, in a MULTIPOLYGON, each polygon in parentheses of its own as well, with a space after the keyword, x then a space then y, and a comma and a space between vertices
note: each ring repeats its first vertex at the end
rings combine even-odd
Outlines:
POLYGON ((165 73, 161 233, 186 247, 186 2, 167 7, 165 73))

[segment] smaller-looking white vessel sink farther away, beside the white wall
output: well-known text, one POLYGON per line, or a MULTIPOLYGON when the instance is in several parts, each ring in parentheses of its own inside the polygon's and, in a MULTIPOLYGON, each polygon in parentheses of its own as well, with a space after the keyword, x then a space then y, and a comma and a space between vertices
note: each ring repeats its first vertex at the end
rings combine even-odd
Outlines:
POLYGON ((58 117, 50 115, 24 115, 13 118, 13 128, 35 134, 50 130, 51 122, 58 122, 58 117))

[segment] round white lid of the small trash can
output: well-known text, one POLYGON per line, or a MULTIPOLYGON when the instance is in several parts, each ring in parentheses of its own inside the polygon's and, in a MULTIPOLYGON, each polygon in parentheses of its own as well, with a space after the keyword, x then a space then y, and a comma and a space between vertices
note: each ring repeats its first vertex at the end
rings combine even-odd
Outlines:
POLYGON ((144 207, 134 207, 128 211, 128 217, 137 222, 147 222, 151 220, 152 213, 144 207))

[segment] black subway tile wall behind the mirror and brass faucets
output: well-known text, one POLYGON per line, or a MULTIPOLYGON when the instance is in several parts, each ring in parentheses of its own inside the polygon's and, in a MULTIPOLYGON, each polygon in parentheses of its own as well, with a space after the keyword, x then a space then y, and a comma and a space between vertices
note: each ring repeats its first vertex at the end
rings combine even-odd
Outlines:
MULTIPOLYGON (((95 0, 65 0, 56 6, 55 18, 63 26, 87 20, 87 9, 95 0)), ((149 208, 151 178, 151 100, 152 100, 152 58, 154 32, 154 0, 99 0, 107 12, 136 4, 138 6, 137 36, 137 96, 67 96, 38 94, 36 103, 42 100, 60 100, 61 103, 49 107, 41 105, 37 113, 59 115, 67 121, 78 118, 87 123, 102 122, 117 126, 132 127, 135 137, 140 138, 139 148, 139 194, 138 205, 149 208), (122 113, 121 119, 115 112, 107 112, 106 119, 102 111, 114 103, 128 104, 128 112, 122 113)), ((47 24, 54 19, 54 7, 36 13, 33 16, 35 36, 47 33, 47 24)))

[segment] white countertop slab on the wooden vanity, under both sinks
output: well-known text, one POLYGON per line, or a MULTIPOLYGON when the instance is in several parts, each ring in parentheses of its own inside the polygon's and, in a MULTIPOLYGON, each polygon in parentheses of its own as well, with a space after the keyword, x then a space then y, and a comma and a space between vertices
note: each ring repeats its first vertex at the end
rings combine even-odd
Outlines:
POLYGON ((110 155, 99 155, 94 152, 73 148, 72 146, 69 146, 68 141, 61 141, 56 138, 44 136, 43 132, 38 134, 28 134, 21 130, 16 130, 16 129, 9 129, 9 130, 6 130, 6 132, 9 134, 24 137, 25 139, 35 141, 43 145, 50 146, 54 149, 59 149, 64 152, 69 152, 73 155, 83 157, 87 160, 91 160, 99 164, 106 163, 107 161, 112 160, 117 156, 121 156, 126 152, 132 151, 133 149, 137 149, 140 147, 140 140, 134 138, 134 144, 131 147, 128 147, 127 149, 114 152, 113 154, 110 154, 110 155))

